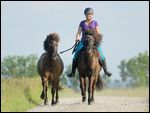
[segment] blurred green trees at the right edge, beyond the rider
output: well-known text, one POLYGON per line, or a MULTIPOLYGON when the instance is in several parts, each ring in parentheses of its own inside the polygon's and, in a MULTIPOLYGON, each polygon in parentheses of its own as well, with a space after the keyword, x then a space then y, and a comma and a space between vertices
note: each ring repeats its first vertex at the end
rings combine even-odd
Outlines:
POLYGON ((122 60, 118 66, 121 80, 126 86, 147 86, 149 84, 149 56, 139 53, 128 61, 122 60))

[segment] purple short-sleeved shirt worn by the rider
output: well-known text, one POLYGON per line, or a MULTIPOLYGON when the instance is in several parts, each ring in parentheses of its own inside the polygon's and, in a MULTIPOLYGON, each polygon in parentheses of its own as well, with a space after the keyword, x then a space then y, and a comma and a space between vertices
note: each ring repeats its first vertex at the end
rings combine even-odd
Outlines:
POLYGON ((82 28, 82 39, 81 40, 84 40, 84 32, 88 29, 95 29, 98 26, 98 23, 97 23, 97 21, 92 20, 90 25, 86 25, 85 20, 83 20, 80 22, 79 26, 82 28))

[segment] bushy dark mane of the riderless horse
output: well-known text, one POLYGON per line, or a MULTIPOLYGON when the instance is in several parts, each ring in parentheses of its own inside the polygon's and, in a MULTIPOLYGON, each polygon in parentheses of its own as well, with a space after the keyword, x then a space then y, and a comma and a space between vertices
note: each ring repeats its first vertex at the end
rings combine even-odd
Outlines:
POLYGON ((57 33, 51 33, 51 34, 47 35, 47 38, 44 41, 44 50, 45 51, 48 50, 49 43, 51 43, 52 41, 56 41, 58 43, 59 40, 60 40, 60 38, 57 33))

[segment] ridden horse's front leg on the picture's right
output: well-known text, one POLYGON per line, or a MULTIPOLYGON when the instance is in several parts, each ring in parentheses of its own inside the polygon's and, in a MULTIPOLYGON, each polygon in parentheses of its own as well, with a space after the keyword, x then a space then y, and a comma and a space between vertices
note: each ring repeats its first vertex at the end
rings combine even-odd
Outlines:
POLYGON ((92 102, 92 90, 93 90, 93 77, 89 77, 89 87, 88 87, 88 104, 91 105, 92 102))

